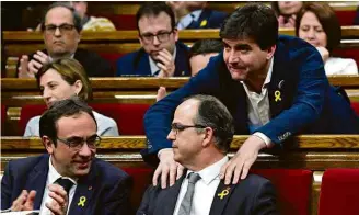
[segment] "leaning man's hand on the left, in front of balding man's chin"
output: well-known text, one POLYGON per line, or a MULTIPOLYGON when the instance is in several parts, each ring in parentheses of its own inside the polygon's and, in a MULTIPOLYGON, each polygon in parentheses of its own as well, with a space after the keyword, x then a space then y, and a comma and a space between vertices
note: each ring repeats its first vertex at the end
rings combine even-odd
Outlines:
POLYGON ((162 149, 160 152, 160 165, 155 169, 152 183, 158 184, 158 179, 161 174, 161 188, 165 189, 167 183, 167 178, 170 177, 170 186, 172 186, 177 179, 183 174, 184 167, 173 159, 173 149, 162 149), (170 174, 170 176, 169 176, 170 174))

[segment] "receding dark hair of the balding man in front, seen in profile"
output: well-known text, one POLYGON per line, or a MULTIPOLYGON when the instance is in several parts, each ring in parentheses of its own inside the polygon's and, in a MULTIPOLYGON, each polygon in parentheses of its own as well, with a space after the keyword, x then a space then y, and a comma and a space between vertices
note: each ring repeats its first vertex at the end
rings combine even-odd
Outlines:
POLYGON ((233 117, 231 113, 222 102, 212 95, 196 94, 186 98, 184 101, 190 99, 199 101, 194 123, 211 127, 213 129, 216 147, 225 154, 230 149, 234 135, 233 117))

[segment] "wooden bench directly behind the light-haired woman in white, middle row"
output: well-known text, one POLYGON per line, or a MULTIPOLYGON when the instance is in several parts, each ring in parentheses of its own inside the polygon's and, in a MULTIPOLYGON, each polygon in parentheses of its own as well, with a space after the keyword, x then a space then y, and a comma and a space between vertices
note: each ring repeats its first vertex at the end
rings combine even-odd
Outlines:
MULTIPOLYGON (((94 100, 90 103, 141 103, 153 104, 160 86, 167 92, 181 88, 188 78, 91 78, 94 100)), ((333 86, 341 86, 351 101, 359 101, 359 76, 329 77, 333 86)), ((7 106, 3 135, 22 135, 19 127, 21 108, 44 104, 35 79, 1 79, 1 102, 7 106)))

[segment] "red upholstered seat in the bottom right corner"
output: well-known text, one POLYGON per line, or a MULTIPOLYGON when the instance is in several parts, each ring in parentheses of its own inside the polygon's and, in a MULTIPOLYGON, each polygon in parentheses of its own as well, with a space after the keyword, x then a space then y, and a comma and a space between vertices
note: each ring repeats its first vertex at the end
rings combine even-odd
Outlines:
POLYGON ((327 169, 322 178, 319 215, 359 214, 359 169, 327 169))

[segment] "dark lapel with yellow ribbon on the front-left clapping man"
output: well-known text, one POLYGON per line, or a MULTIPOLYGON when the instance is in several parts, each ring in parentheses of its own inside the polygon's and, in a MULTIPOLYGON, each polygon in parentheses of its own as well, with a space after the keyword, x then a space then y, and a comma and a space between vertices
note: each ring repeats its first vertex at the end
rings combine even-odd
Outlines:
MULTIPOLYGON (((93 160, 95 162, 95 160, 93 160)), ((92 163, 91 171, 88 177, 81 178, 78 181, 78 186, 74 191, 74 195, 69 207, 68 214, 86 214, 85 210, 89 207, 93 196, 93 190, 95 190, 96 185, 96 169, 95 165, 92 163)))

